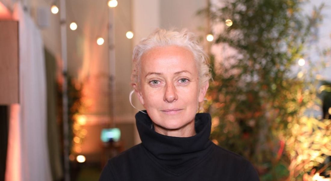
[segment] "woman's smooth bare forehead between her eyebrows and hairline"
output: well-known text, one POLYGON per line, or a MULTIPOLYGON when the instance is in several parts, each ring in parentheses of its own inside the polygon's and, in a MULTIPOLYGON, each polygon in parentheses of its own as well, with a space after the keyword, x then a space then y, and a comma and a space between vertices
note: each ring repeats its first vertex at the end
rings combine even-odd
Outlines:
POLYGON ((197 72, 193 53, 185 47, 176 45, 154 47, 145 52, 141 57, 142 73, 149 71, 170 73, 188 70, 197 72))

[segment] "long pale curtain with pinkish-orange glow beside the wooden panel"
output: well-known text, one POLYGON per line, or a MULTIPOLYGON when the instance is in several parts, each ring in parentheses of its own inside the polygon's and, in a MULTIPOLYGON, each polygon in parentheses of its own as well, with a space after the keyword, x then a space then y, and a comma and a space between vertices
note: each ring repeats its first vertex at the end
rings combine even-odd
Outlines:
POLYGON ((19 21, 20 104, 11 105, 6 181, 49 181, 46 75, 41 33, 20 2, 13 18, 19 21))

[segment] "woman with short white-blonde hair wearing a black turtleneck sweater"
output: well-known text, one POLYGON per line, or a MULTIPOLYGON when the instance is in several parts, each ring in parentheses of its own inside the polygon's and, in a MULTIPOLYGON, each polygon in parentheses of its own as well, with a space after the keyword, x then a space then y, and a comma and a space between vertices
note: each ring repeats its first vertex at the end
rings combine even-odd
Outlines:
POLYGON ((209 140, 211 116, 197 113, 211 74, 188 31, 158 29, 133 51, 132 86, 142 143, 108 161, 101 181, 255 181, 252 164, 209 140))

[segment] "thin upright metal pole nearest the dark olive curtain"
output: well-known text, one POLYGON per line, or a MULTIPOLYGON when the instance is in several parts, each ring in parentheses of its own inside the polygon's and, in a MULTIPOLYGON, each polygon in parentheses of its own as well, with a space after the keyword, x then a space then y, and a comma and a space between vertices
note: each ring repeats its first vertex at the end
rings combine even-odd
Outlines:
POLYGON ((64 157, 64 180, 70 181, 69 166, 69 124, 68 124, 68 88, 67 88, 67 23, 66 1, 60 0, 60 25, 61 25, 61 58, 63 63, 63 157, 64 157))

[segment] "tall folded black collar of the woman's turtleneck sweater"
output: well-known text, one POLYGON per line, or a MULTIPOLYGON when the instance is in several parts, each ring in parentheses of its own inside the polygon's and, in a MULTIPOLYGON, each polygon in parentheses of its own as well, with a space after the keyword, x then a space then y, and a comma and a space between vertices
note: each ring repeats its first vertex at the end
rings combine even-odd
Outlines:
POLYGON ((142 145, 151 158, 174 175, 179 175, 198 164, 211 150, 209 140, 211 116, 197 113, 195 116, 196 135, 172 137, 159 134, 153 129, 148 114, 138 112, 136 124, 142 145))

